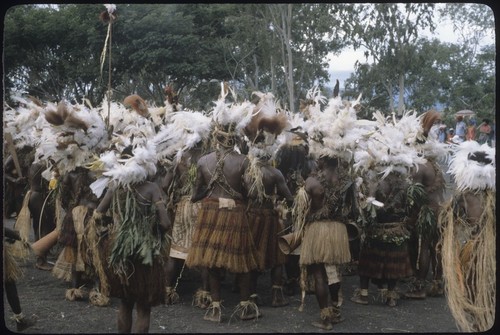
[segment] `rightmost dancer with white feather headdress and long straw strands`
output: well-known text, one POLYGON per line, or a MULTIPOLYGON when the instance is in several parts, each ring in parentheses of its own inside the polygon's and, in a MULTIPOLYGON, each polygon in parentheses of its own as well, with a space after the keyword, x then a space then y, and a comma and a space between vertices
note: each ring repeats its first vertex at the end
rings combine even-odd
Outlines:
POLYGON ((446 298, 462 331, 484 332, 496 315, 495 148, 464 142, 449 171, 456 192, 439 216, 446 298))

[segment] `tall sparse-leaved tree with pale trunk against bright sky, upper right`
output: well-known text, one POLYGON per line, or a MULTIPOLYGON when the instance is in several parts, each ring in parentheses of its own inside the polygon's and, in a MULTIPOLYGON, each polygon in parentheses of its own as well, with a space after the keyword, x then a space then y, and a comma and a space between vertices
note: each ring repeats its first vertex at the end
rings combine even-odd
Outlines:
MULTIPOLYGON (((346 20, 349 39, 355 49, 363 46, 366 57, 372 57, 374 65, 358 64, 369 73, 374 82, 385 89, 389 110, 394 111, 397 96, 397 113, 405 109, 405 80, 415 57, 415 44, 422 29, 434 30, 434 4, 362 4, 354 6, 354 17, 346 20)), ((368 94, 369 95, 369 94, 368 94)), ((380 93, 377 94, 377 97, 380 93)))

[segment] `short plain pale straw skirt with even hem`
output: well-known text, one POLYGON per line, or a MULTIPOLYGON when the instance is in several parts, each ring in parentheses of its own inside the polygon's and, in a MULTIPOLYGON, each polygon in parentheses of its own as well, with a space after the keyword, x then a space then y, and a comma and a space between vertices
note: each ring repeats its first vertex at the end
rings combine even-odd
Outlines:
POLYGON ((302 238, 300 265, 339 265, 350 261, 349 237, 345 224, 337 221, 315 221, 307 224, 302 238))

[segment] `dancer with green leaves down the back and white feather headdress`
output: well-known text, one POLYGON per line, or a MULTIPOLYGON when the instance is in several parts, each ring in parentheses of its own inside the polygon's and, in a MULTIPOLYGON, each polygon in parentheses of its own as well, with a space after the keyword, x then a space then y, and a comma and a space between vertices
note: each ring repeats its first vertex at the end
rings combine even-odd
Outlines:
POLYGON ((120 333, 132 331, 134 307, 134 332, 149 331, 151 308, 165 303, 164 259, 170 249, 166 232, 171 222, 163 192, 146 180, 156 173, 155 146, 147 138, 134 141, 124 150, 127 154, 122 152, 123 165, 116 163, 107 171, 113 179, 94 211, 94 233, 89 234, 101 290, 120 298, 120 333), (130 166, 134 168, 126 168, 130 166))

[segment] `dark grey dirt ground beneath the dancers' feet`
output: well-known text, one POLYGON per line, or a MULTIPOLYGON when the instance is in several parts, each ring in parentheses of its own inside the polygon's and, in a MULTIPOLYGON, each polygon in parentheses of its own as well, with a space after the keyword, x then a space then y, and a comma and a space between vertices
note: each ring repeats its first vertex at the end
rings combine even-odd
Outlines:
MULTIPOLYGON (((12 227, 14 220, 5 222, 12 227)), ((49 261, 55 262, 57 249, 49 261)), ((24 333, 32 334, 95 334, 116 333, 116 316, 119 301, 111 299, 107 307, 96 307, 88 302, 67 301, 64 298, 67 283, 56 279, 50 272, 34 267, 34 259, 22 264, 24 277, 18 282, 18 291, 23 313, 33 317, 37 323, 24 333)), ((307 295, 304 311, 300 306, 300 292, 289 297, 290 305, 271 307, 271 284, 269 273, 259 278, 258 294, 263 316, 258 320, 241 321, 232 318, 234 307, 239 302, 238 294, 232 291, 233 276, 228 275, 222 285, 223 320, 212 323, 203 320, 204 310, 192 306, 192 296, 200 283, 199 274, 184 270, 178 283, 181 301, 175 305, 160 305, 153 308, 150 333, 322 333, 311 326, 319 319, 319 307, 314 295, 307 295)), ((336 333, 455 333, 458 331, 448 309, 445 297, 428 297, 425 300, 399 300, 396 307, 388 307, 376 300, 377 289, 370 287, 369 305, 358 305, 349 301, 358 287, 356 275, 343 277, 344 303, 341 307, 345 321, 334 325, 336 333)), ((406 290, 399 283, 400 292, 406 290)), ((88 289, 87 289, 88 292, 88 289)), ((5 298, 4 330, 15 331, 12 311, 5 298)), ((2 332, 3 333, 3 332, 2 332)))

